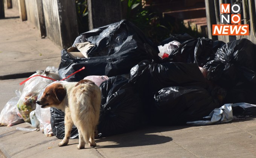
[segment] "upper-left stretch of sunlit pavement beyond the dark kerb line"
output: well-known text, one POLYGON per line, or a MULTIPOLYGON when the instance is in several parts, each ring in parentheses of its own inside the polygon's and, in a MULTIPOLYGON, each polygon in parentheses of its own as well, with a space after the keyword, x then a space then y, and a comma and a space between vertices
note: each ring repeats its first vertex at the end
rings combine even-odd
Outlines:
POLYGON ((61 49, 41 39, 38 29, 21 21, 15 9, 5 9, 0 19, 0 79, 30 76, 47 66, 59 66, 61 49))

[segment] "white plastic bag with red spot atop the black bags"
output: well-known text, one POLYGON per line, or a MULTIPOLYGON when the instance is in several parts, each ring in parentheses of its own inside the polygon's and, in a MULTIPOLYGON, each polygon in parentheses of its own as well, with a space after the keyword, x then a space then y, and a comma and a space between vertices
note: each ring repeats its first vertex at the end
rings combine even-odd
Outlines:
POLYGON ((158 56, 161 58, 168 58, 169 54, 177 49, 180 46, 180 43, 178 41, 171 41, 163 46, 158 46, 159 52, 158 56))

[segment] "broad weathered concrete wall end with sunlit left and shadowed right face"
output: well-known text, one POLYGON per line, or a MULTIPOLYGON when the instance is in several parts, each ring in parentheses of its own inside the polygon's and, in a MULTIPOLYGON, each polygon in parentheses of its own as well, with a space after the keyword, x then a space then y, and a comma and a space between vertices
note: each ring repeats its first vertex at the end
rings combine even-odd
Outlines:
POLYGON ((75 1, 42 1, 47 37, 61 48, 71 47, 78 36, 75 1))

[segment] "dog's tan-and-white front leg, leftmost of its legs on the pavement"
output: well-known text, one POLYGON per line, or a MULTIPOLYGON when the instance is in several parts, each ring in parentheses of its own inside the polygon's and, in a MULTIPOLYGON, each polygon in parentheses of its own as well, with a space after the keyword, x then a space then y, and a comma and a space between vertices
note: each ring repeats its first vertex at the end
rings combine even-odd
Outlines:
POLYGON ((58 146, 66 146, 69 143, 70 133, 72 130, 72 126, 74 124, 72 121, 72 118, 71 118, 69 107, 67 107, 65 109, 64 123, 65 123, 65 136, 64 136, 64 139, 59 143, 58 146))

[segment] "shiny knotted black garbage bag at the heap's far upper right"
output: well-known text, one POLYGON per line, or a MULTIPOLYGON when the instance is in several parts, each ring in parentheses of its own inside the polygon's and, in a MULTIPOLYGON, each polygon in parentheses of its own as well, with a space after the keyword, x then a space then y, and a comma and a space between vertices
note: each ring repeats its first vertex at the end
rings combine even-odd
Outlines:
POLYGON ((238 82, 256 84, 256 45, 247 39, 230 41, 218 49, 215 58, 207 62, 207 78, 224 88, 232 88, 238 82))

